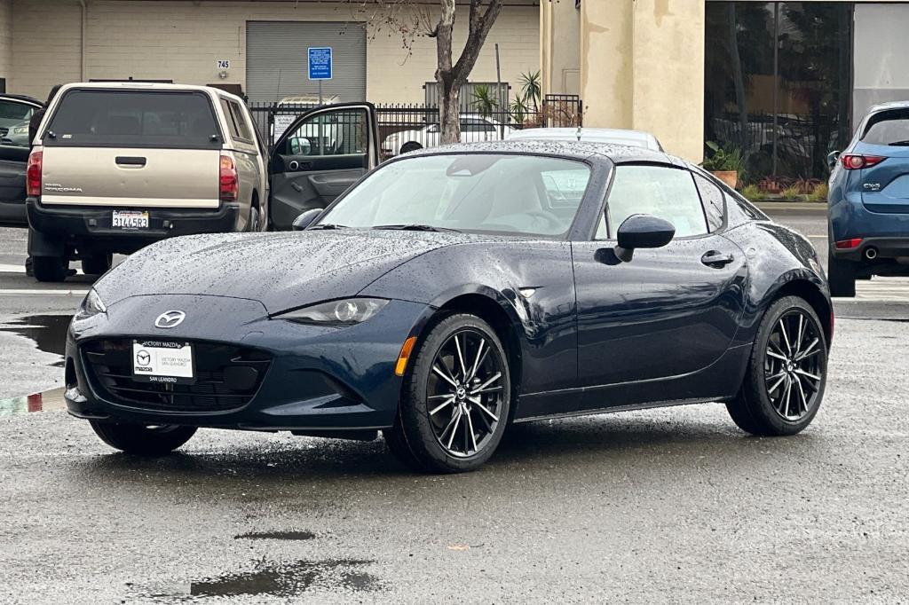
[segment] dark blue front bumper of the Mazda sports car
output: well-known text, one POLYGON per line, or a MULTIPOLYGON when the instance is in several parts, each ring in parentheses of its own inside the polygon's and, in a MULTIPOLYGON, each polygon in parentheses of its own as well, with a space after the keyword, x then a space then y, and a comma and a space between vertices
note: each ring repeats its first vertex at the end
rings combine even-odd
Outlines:
MULTIPOLYGON (((431 312, 425 304, 391 301, 369 321, 337 329, 271 320, 261 303, 246 299, 191 295, 127 298, 110 305, 106 313, 74 320, 70 325, 66 406, 76 417, 113 422, 254 431, 387 428, 395 422, 401 391, 402 378, 395 375, 401 345, 420 330, 431 312), (185 310, 184 323, 171 330, 154 327, 160 313, 174 309, 185 310), (130 384, 122 377, 111 382, 103 375, 110 368, 100 366, 99 370, 95 358, 87 355, 99 343, 133 338, 192 342, 196 351, 226 345, 257 352, 268 362, 259 366, 264 376, 245 402, 231 400, 233 403, 221 409, 212 409, 207 403, 212 397, 192 394, 154 403, 136 395, 145 400, 136 401, 129 389, 111 384, 125 382, 140 390, 153 387, 130 384)), ((205 362, 210 360, 197 360, 199 364, 205 362)), ((202 382, 202 372, 198 373, 202 382)))

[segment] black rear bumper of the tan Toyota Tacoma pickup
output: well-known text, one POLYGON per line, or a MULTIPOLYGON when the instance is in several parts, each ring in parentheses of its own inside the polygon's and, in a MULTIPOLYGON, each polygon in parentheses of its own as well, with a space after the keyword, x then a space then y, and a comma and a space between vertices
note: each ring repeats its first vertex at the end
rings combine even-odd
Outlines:
MULTIPOLYGON (((115 208, 108 206, 45 205, 26 200, 28 223, 46 240, 98 252, 131 254, 166 237, 193 233, 236 231, 240 207, 222 203, 219 208, 134 208, 148 213, 148 229, 123 230, 111 226, 115 208)), ((119 208, 116 208, 119 210, 119 208)))

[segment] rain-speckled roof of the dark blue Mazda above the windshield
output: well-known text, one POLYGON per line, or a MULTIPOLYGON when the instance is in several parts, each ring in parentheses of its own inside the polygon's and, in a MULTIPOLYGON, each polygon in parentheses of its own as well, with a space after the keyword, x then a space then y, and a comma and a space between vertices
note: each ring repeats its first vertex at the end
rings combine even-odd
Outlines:
POLYGON ((435 154, 543 154, 557 155, 575 160, 586 160, 594 156, 611 160, 614 164, 654 162, 659 164, 687 164, 672 155, 644 147, 596 143, 588 141, 545 141, 539 139, 486 141, 483 143, 455 143, 439 147, 420 149, 404 157, 435 154))

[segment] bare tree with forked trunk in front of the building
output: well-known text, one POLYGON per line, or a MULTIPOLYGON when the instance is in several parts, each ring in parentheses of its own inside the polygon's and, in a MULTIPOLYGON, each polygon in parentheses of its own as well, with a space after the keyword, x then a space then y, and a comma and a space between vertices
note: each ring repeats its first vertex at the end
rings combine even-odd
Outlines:
POLYGON ((438 13, 429 8, 426 0, 348 0, 348 4, 365 16, 366 22, 375 31, 388 27, 399 33, 408 54, 413 52, 416 36, 435 38, 435 82, 439 86, 442 143, 457 143, 461 140, 458 111, 461 86, 467 83, 467 78, 474 70, 486 36, 502 11, 502 1, 469 0, 467 41, 461 55, 454 61, 452 39, 455 16, 458 15, 455 0, 438 0, 438 13))

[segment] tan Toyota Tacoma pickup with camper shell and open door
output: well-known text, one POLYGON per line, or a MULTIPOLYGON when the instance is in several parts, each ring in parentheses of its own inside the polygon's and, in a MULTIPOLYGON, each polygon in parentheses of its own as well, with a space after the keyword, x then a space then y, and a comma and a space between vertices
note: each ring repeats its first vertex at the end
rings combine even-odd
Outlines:
MULTIPOLYGON (((345 107, 351 130, 375 131, 365 122, 371 106, 333 107, 345 107)), ((175 84, 66 85, 29 158, 35 278, 63 280, 75 259, 85 273, 104 273, 112 253, 175 235, 255 232, 268 220, 290 228, 298 213, 325 207, 375 165, 377 150, 358 147, 355 136, 340 147, 287 143, 324 112, 298 118, 269 157, 232 94, 175 84)))

